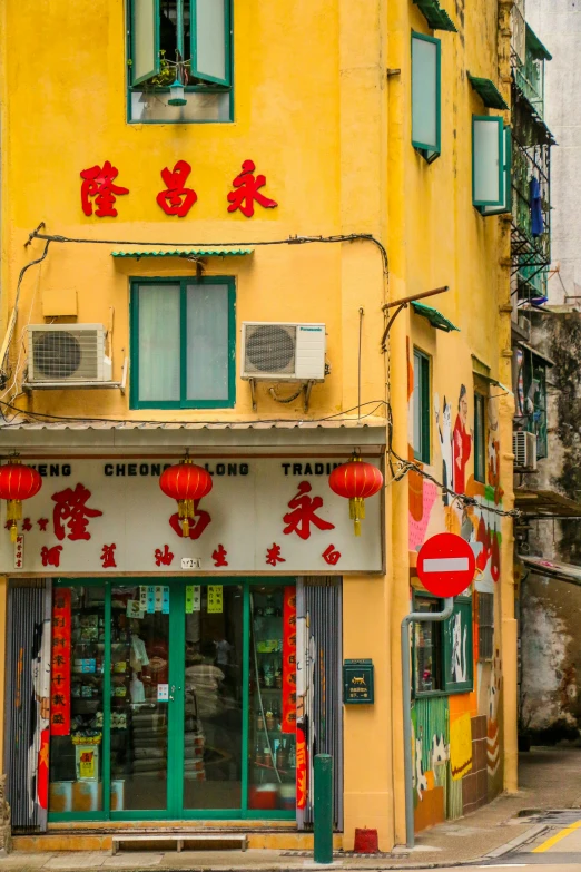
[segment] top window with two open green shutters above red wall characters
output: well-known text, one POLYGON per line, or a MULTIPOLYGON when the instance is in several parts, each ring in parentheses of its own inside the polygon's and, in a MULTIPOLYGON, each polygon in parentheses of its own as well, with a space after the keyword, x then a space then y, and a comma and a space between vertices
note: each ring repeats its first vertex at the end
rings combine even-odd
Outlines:
POLYGON ((129 120, 232 120, 232 0, 130 0, 129 120), (176 79, 185 86, 171 96, 176 79))

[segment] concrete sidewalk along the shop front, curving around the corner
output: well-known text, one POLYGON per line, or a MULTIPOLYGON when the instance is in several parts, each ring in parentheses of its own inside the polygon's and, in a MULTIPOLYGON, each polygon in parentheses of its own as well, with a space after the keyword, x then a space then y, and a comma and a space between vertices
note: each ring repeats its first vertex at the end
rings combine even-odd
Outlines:
MULTIPOLYGON (((520 757, 518 794, 499 796, 474 814, 440 824, 416 837, 416 847, 396 847, 390 854, 353 856, 336 854, 333 868, 371 870, 433 868, 474 863, 504 850, 539 839, 546 827, 531 816, 550 809, 580 809, 581 748, 533 748, 520 757), (526 814, 528 813, 528 814, 526 814)), ((132 852, 117 856, 106 852, 23 853, 0 859, 0 872, 28 870, 304 870, 321 869, 306 852, 290 851, 184 851, 132 852)))

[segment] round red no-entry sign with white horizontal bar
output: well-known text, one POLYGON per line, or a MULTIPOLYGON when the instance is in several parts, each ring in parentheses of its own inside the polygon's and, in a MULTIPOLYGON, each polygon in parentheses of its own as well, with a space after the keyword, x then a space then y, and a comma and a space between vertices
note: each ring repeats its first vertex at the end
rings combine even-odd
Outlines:
POLYGON ((465 539, 455 533, 432 536, 417 555, 417 575, 436 597, 456 597, 474 578, 476 560, 465 539))

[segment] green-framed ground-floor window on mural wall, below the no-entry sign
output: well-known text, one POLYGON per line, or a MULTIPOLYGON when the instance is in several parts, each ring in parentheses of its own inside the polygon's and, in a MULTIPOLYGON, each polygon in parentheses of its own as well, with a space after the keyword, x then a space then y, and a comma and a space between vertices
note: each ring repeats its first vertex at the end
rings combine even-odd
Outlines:
MULTIPOLYGON (((442 611, 443 607, 444 600, 431 594, 414 591, 414 611, 442 611)), ((472 633, 471 596, 454 600, 454 609, 447 620, 414 624, 412 689, 415 698, 463 694, 474 689, 472 633), (422 685, 427 684, 431 685, 430 689, 422 689, 422 685)))

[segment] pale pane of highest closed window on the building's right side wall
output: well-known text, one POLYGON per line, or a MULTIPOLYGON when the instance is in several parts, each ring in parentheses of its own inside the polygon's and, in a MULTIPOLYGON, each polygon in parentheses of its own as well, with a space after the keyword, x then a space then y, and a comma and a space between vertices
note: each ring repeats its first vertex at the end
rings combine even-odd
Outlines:
POLYGON ((437 49, 435 42, 412 39, 412 141, 439 148, 437 49))

